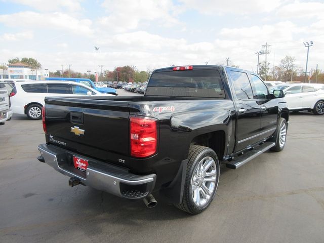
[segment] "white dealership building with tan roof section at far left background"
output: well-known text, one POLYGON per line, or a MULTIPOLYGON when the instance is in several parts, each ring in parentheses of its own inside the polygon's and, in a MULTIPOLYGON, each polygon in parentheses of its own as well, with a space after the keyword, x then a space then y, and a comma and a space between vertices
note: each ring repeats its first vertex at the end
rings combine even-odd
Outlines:
POLYGON ((49 77, 48 69, 33 69, 26 63, 8 64, 7 70, 0 70, 0 78, 43 80, 49 77))

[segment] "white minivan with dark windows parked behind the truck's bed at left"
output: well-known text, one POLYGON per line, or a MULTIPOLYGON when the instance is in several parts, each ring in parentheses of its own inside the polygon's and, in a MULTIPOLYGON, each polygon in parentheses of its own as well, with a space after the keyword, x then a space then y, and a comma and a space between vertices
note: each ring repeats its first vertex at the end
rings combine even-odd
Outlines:
POLYGON ((15 92, 11 93, 11 107, 14 113, 26 114, 28 118, 42 118, 45 97, 51 96, 114 96, 102 94, 86 85, 67 81, 16 82, 15 92))

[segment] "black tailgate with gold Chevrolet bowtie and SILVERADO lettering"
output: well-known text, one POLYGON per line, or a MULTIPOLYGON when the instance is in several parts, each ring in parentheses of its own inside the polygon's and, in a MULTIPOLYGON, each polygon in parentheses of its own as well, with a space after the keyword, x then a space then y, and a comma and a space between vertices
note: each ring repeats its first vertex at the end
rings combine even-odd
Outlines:
POLYGON ((129 154, 128 102, 58 97, 45 101, 48 142, 97 158, 107 152, 129 154))

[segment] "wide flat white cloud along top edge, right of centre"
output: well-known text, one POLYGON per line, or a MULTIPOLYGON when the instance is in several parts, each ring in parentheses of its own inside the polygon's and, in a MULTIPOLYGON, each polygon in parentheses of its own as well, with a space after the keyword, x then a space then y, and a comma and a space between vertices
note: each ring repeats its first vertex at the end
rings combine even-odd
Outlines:
POLYGON ((203 14, 253 14, 271 12, 280 6, 281 0, 260 1, 260 0, 227 0, 220 2, 215 0, 179 0, 188 9, 195 9, 203 14))

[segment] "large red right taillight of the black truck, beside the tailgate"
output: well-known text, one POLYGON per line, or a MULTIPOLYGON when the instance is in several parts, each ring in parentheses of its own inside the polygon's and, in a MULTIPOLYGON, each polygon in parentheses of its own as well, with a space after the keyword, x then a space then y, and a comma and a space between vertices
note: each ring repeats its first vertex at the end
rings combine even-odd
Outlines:
POLYGON ((131 155, 147 157, 156 152, 157 119, 151 117, 130 117, 131 155))

